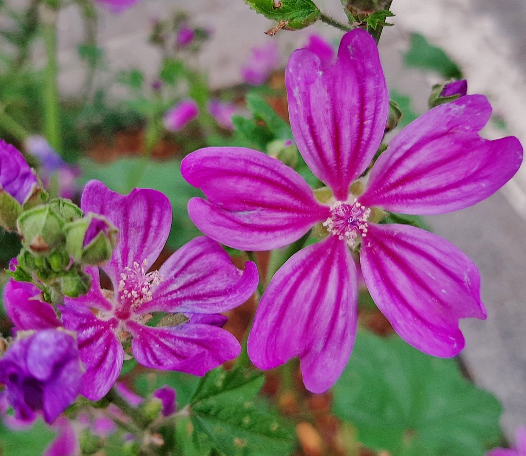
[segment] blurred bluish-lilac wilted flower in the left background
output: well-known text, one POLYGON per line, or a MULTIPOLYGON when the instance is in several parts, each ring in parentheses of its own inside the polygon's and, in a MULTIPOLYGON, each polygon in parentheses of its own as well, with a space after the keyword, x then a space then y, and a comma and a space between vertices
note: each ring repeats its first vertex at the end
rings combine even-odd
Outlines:
POLYGON ((72 199, 76 193, 75 182, 80 175, 79 168, 62 160, 43 136, 29 136, 25 141, 25 148, 40 162, 40 175, 44 185, 49 186, 51 177, 56 175, 59 195, 72 199))

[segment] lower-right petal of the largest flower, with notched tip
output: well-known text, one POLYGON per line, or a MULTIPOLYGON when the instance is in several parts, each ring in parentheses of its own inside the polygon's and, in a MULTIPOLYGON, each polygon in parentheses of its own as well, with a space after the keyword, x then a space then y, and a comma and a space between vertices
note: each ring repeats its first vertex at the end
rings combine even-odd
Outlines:
POLYGON ((458 354, 464 347, 459 319, 486 318, 477 266, 440 236, 370 223, 360 262, 378 308, 403 340, 424 353, 458 354))

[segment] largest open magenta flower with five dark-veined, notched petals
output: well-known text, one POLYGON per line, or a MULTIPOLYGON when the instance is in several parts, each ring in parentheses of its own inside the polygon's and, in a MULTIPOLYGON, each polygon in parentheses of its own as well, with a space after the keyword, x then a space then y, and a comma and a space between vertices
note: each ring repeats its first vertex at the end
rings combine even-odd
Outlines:
POLYGON ((355 339, 357 272, 350 250, 359 246, 368 289, 398 334, 423 352, 457 354, 464 345, 459 319, 486 316, 477 267, 439 236, 374 222, 380 208, 440 214, 483 200, 517 171, 517 138, 481 138, 491 106, 481 95, 461 97, 393 138, 360 193, 363 186, 351 183, 378 150, 389 107, 373 39, 360 29, 347 33, 331 66, 298 49, 285 82, 299 151, 329 187, 317 192, 319 200, 295 171, 245 148, 206 148, 181 166, 208 198, 190 200, 190 217, 219 242, 276 249, 314 225, 327 236, 293 255, 271 280, 248 339, 251 360, 270 369, 299 356, 313 392, 336 381, 355 339))

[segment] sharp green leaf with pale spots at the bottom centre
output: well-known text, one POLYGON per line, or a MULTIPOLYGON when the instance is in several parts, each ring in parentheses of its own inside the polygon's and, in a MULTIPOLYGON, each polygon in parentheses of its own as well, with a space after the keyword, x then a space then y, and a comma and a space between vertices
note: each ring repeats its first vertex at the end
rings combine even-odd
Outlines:
POLYGON ((190 402, 199 441, 229 456, 288 454, 294 432, 256 400, 264 381, 258 371, 210 371, 190 402))

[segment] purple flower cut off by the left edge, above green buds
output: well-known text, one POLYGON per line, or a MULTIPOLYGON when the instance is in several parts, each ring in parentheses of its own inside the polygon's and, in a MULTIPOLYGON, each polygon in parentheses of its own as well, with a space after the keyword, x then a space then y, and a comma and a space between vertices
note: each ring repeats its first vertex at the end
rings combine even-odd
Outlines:
POLYGON ((0 191, 23 205, 38 186, 33 170, 15 146, 0 140, 0 191))

